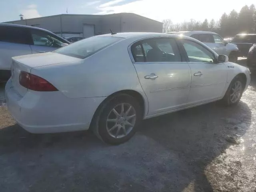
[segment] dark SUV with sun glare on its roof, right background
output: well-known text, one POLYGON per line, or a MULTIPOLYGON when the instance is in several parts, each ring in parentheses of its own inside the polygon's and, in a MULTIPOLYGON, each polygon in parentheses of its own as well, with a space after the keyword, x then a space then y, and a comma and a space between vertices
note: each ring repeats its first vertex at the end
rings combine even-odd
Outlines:
POLYGON ((238 46, 238 56, 246 57, 250 47, 256 43, 256 34, 238 34, 231 42, 238 46))

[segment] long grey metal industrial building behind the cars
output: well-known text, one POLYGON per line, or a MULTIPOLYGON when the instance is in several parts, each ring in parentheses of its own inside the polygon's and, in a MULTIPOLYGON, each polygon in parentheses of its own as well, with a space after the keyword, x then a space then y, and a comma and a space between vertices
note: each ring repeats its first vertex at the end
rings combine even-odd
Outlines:
POLYGON ((60 14, 5 23, 44 28, 62 37, 90 37, 113 32, 162 32, 163 24, 134 13, 107 15, 60 14))

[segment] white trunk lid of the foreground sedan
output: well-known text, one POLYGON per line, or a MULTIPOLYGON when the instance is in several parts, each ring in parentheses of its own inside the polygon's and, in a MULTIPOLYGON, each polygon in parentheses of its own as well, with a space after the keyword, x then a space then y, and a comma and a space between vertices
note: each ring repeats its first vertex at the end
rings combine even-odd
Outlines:
POLYGON ((76 62, 80 60, 81 59, 79 58, 74 58, 52 52, 13 57, 11 65, 11 79, 14 90, 20 96, 24 96, 28 92, 27 88, 20 85, 19 77, 21 71, 30 73, 32 68, 66 62, 76 62))

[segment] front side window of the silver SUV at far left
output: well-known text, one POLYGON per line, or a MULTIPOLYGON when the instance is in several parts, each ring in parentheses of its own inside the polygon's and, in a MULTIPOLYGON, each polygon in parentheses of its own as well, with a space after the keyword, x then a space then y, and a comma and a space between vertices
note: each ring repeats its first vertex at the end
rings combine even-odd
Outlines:
POLYGON ((32 29, 31 36, 32 36, 33 44, 37 46, 60 48, 62 47, 63 43, 66 43, 58 36, 55 36, 46 31, 32 29))

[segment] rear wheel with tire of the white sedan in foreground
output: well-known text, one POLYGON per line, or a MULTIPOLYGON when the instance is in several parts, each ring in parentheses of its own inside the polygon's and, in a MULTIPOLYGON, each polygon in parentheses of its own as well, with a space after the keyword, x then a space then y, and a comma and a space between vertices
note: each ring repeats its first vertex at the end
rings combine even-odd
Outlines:
POLYGON ((119 94, 102 106, 94 133, 107 144, 122 144, 134 136, 141 120, 142 108, 136 98, 119 94))

